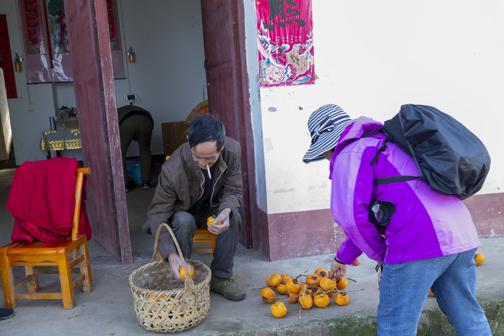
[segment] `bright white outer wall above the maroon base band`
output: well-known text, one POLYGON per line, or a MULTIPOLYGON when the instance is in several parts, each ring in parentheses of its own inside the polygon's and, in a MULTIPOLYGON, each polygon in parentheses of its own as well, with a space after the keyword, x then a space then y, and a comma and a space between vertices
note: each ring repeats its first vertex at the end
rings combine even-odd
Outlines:
POLYGON ((262 88, 268 213, 329 208, 328 161, 304 164, 306 122, 326 103, 385 121, 405 103, 435 106, 486 145, 480 193, 504 190, 500 2, 314 0, 314 85, 262 88), (279 127, 278 125, 283 125, 279 127))

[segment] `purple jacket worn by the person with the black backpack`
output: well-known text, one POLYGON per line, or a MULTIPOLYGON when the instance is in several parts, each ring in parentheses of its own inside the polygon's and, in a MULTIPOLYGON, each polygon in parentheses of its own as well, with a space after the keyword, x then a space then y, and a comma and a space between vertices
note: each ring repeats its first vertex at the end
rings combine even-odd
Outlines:
POLYGON ((386 137, 377 133, 359 138, 381 125, 360 117, 343 131, 331 157, 331 211, 346 234, 338 259, 350 264, 364 252, 376 261, 400 263, 480 246, 471 214, 459 198, 440 194, 420 180, 373 186, 374 178, 419 175, 413 159, 393 143, 371 166, 386 137), (396 206, 385 238, 369 222, 367 208, 377 200, 396 206))

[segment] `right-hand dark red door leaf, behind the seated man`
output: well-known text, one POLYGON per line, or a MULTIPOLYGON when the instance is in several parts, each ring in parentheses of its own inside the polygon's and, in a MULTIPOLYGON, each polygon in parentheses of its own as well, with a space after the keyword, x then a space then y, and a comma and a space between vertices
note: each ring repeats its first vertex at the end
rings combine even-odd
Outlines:
POLYGON ((257 203, 256 162, 246 68, 244 4, 240 0, 202 0, 203 41, 209 111, 222 120, 226 135, 241 145, 243 201, 240 242, 260 247, 267 216, 257 203))

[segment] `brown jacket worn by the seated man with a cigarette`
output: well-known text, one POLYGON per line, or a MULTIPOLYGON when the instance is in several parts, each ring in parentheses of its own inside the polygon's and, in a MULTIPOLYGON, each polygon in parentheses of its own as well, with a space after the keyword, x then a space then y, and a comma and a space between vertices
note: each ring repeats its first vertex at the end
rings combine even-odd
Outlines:
MULTIPOLYGON (((187 211, 203 194, 205 175, 191 155, 189 143, 181 145, 161 167, 156 192, 152 198, 143 231, 155 235, 161 223, 168 223, 175 211, 187 211)), ((215 164, 210 205, 231 209, 231 218, 240 207, 243 181, 240 167, 240 144, 226 137, 226 145, 215 164)), ((169 224, 169 223, 168 223, 169 224)), ((163 257, 176 252, 166 230, 159 237, 163 257)))

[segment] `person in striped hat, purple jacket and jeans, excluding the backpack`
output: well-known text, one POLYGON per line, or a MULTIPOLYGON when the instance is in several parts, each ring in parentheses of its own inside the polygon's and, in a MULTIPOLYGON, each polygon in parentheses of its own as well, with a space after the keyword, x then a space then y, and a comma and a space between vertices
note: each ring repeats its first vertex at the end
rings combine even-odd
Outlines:
POLYGON ((360 137, 381 126, 351 119, 334 104, 308 119, 311 145, 303 162, 330 161, 331 211, 346 235, 329 276, 344 276, 362 252, 383 265, 378 335, 416 335, 429 289, 458 335, 491 335, 474 297, 474 253, 481 244, 471 214, 459 198, 421 180, 373 185, 375 178, 419 176, 414 160, 394 143, 370 163, 386 136, 360 137))

